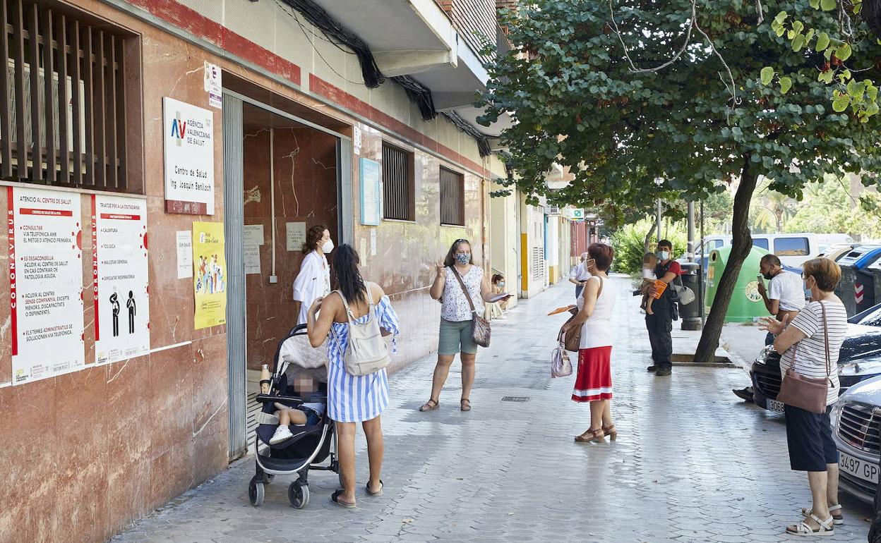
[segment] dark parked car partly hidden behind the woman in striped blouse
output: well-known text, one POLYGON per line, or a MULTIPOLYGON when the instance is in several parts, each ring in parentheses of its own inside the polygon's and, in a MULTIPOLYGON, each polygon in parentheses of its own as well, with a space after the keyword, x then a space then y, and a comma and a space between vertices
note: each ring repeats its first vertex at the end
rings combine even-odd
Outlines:
MULTIPOLYGON (((881 375, 881 304, 850 319, 848 337, 841 344, 838 358, 840 394, 860 381, 881 375)), ((762 349, 750 371, 753 400, 774 413, 783 413, 777 401, 780 393, 780 355, 771 346, 762 349)))

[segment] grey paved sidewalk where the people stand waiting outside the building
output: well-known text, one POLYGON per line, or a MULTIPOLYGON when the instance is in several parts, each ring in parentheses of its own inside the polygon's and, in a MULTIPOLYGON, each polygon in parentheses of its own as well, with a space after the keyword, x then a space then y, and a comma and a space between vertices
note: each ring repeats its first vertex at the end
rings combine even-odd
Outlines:
MULTIPOLYGON (((341 510, 329 503, 337 476, 315 472, 306 509, 288 505, 285 477, 267 487, 263 507, 253 508, 254 462, 244 459, 112 541, 800 540, 782 532, 810 505, 810 492, 806 476, 788 469, 782 420, 730 393, 744 385, 743 370, 677 366, 670 378, 648 374, 637 299, 619 281, 612 351, 617 442, 574 444, 589 427, 588 407, 569 400, 574 378, 550 377, 552 341, 565 317, 545 314, 570 301, 563 285, 493 321, 492 347, 478 355, 470 413, 458 409, 457 371, 441 408, 418 413, 428 398, 431 359, 389 379, 383 496, 360 490, 359 508, 341 510)), ((359 436, 362 488, 364 448, 359 436)), ((824 540, 865 541, 869 524, 862 517, 870 508, 841 497, 847 524, 824 540)))

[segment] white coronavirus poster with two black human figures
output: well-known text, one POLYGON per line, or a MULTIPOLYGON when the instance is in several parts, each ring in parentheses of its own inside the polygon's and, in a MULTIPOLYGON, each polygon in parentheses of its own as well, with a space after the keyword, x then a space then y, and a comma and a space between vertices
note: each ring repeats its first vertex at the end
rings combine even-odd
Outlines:
POLYGON ((147 201, 92 196, 95 363, 150 352, 147 201))

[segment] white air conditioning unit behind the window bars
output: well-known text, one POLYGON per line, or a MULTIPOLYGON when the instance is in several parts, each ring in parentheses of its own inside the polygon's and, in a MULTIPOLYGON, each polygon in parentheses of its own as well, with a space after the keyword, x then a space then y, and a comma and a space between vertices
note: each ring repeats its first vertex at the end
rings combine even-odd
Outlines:
MULTIPOLYGON (((33 146, 33 126, 31 124, 31 100, 33 99, 33 93, 31 92, 31 66, 28 63, 24 64, 25 69, 25 144, 28 149, 31 149, 33 146)), ((39 100, 39 110, 41 112, 40 115, 40 146, 43 149, 46 149, 46 72, 42 68, 40 70, 39 80, 40 86, 37 89, 37 99, 39 100)), ((19 131, 18 131, 18 123, 19 119, 17 117, 17 108, 16 108, 16 96, 15 96, 15 61, 9 59, 6 64, 6 80, 8 81, 7 92, 10 97, 10 125, 11 125, 11 134, 10 141, 12 143, 13 150, 15 149, 16 144, 19 143, 19 131)), ((67 148, 70 152, 73 152, 73 103, 71 98, 71 84, 73 79, 68 76, 66 77, 65 84, 67 86, 67 96, 68 96, 68 104, 67 104, 67 148)), ((79 80, 79 141, 83 142, 83 149, 85 150, 85 83, 82 79, 79 80)), ((60 127, 58 126, 58 74, 56 72, 52 72, 52 119, 54 120, 55 132, 52 135, 53 141, 55 142, 56 153, 57 150, 61 146, 61 139, 59 136, 60 127)), ((45 167, 45 163, 43 164, 45 167)))

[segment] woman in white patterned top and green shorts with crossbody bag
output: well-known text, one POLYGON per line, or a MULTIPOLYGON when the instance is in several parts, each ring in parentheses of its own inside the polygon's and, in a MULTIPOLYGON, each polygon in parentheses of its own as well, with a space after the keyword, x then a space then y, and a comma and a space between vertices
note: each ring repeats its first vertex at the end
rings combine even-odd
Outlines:
POLYGON ((474 364, 477 360, 478 344, 471 336, 474 313, 471 312, 468 298, 465 297, 462 285, 455 275, 462 277, 474 304, 474 312, 478 315, 484 314, 485 302, 507 300, 511 295, 496 299, 500 295, 492 293, 484 270, 474 265, 474 259, 471 258, 471 244, 467 239, 456 239, 449 247, 447 258, 436 267, 437 276, 434 277, 430 294, 442 304, 438 363, 434 367, 432 396, 425 405, 419 407, 419 411, 433 411, 441 405, 441 388, 447 382, 449 366, 453 363, 456 353, 459 353, 462 359, 462 399, 459 401, 459 408, 470 411, 469 396, 471 385, 474 384, 474 364))

